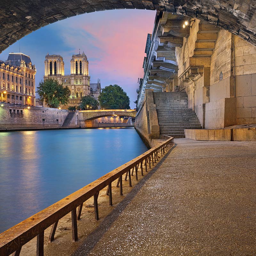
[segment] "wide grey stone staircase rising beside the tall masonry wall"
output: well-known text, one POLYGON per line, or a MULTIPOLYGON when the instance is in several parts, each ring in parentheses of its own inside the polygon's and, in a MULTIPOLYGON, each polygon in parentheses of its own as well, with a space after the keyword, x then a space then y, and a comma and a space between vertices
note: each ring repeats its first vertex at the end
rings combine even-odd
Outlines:
POLYGON ((154 92, 160 134, 185 138, 184 129, 200 129, 195 111, 188 108, 186 92, 154 92))

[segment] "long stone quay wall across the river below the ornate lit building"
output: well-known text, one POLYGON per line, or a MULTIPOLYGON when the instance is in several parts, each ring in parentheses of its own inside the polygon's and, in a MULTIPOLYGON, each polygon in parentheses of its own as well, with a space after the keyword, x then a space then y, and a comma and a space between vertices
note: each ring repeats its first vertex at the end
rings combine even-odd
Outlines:
MULTIPOLYGON (((1 104, 0 131, 28 129, 59 129, 69 111, 65 109, 43 108, 18 104, 1 104), (2 106, 3 105, 3 106, 2 106)), ((78 128, 76 115, 66 128, 78 128)))

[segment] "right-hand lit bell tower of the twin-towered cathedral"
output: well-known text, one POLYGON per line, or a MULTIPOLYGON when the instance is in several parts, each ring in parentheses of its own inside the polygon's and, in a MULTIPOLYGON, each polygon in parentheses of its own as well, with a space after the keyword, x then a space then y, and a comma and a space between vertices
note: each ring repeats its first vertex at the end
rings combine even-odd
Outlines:
POLYGON ((88 76, 88 66, 89 62, 84 52, 82 54, 80 52, 79 54, 73 54, 70 60, 70 74, 88 76))

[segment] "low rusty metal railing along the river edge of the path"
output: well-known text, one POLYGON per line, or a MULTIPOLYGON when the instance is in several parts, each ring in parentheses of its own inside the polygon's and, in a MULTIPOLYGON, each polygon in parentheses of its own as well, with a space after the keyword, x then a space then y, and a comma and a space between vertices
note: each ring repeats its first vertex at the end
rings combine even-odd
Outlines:
POLYGON ((36 255, 43 256, 44 230, 52 225, 52 230, 49 236, 49 241, 52 242, 54 240, 58 221, 70 212, 72 218, 72 237, 73 241, 77 241, 77 220, 80 219, 84 202, 93 196, 95 219, 99 220, 98 196, 100 190, 108 186, 107 195, 109 196, 109 204, 112 205, 113 181, 117 180, 116 187, 120 188, 120 195, 123 195, 122 177, 124 174, 124 180, 127 181, 128 177, 129 186, 132 187, 131 175, 133 175, 134 170, 135 178, 138 180, 139 167, 141 175, 143 176, 143 166, 144 170, 147 172, 147 165, 149 168, 151 168, 151 165, 156 163, 160 154, 163 156, 166 151, 172 148, 174 145, 172 137, 161 135, 161 139, 164 141, 158 146, 151 148, 130 162, 123 164, 122 166, 102 176, 98 180, 88 184, 84 188, 77 190, 66 198, 61 199, 57 203, 52 204, 41 212, 36 213, 30 218, 23 220, 19 224, 1 233, 0 255, 8 256, 13 253, 13 256, 19 256, 21 247, 37 236, 36 255), (78 211, 76 212, 77 207, 78 211))

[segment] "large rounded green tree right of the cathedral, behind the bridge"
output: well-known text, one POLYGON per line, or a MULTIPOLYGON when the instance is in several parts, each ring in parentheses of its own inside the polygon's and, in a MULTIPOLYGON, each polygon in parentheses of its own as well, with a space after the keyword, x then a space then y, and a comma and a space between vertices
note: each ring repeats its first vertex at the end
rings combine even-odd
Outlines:
POLYGON ((102 89, 99 96, 100 107, 105 109, 130 109, 130 99, 117 84, 102 89))

